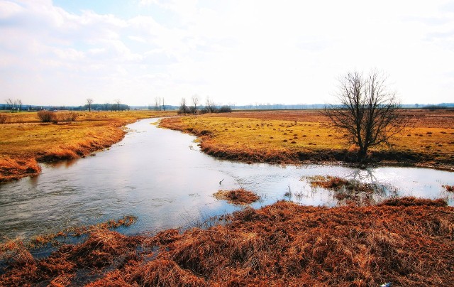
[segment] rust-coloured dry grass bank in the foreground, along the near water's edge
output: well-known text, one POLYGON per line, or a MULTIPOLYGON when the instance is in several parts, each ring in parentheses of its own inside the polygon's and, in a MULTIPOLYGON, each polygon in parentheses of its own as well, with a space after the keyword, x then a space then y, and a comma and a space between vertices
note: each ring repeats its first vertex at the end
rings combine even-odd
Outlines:
POLYGON ((277 202, 225 225, 154 237, 94 230, 46 259, 23 247, 4 286, 448 286, 454 208, 438 200, 308 207, 277 202))

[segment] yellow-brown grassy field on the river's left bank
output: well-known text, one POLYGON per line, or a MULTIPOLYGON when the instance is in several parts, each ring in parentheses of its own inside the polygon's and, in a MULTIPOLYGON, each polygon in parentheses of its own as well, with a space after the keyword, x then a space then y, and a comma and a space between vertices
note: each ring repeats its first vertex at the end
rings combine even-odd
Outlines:
MULTIPOLYGON (((60 115, 66 112, 57 112, 60 115)), ((87 156, 123 139, 122 126, 175 112, 78 112, 76 121, 41 123, 36 112, 3 114, 0 124, 0 182, 40 173, 38 162, 87 156)))

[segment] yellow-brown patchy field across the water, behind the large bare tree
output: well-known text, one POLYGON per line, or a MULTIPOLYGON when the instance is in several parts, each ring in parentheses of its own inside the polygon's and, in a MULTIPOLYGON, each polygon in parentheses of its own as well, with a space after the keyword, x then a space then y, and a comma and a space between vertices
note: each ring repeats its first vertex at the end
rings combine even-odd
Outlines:
MULTIPOLYGON (((372 162, 454 169, 454 112, 406 110, 411 127, 392 147, 370 150, 372 162)), ((329 129, 321 111, 265 111, 168 118, 160 126, 201 138, 202 151, 245 162, 355 161, 355 147, 329 129)))

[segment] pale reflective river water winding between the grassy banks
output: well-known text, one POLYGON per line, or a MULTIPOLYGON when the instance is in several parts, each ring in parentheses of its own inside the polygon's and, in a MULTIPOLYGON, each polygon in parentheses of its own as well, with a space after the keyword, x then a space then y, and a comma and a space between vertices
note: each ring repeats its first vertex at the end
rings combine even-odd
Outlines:
POLYGON ((128 125, 125 139, 109 150, 76 161, 44 165, 35 178, 0 185, 0 242, 96 224, 124 215, 138 222, 127 234, 187 227, 242 207, 216 200, 219 189, 243 187, 261 196, 253 207, 287 199, 304 205, 336 206, 329 190, 311 188, 304 177, 333 175, 383 185, 375 195, 447 198, 442 185, 454 173, 426 168, 272 166, 222 161, 199 151, 194 136, 160 129, 157 119, 128 125), (290 193, 289 193, 290 192, 290 193), (287 193, 287 194, 286 194, 287 193))

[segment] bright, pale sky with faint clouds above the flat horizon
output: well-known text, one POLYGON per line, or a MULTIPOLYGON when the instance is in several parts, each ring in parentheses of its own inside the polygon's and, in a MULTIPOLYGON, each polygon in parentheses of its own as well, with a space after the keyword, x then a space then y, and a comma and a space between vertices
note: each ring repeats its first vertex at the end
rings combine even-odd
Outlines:
POLYGON ((0 0, 0 102, 336 102, 347 72, 454 102, 454 1, 0 0))

